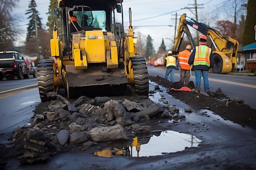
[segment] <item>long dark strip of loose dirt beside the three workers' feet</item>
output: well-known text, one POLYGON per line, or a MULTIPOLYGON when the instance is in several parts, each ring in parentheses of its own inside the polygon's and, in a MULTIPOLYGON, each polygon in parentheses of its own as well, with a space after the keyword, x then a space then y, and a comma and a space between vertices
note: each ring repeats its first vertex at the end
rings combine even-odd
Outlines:
MULTIPOLYGON (((171 88, 179 89, 184 84, 180 82, 170 82, 162 77, 150 77, 152 82, 156 82, 169 90, 171 88)), ((190 87, 191 88, 191 87, 190 87)), ((230 99, 228 96, 222 93, 218 88, 215 92, 211 92, 210 95, 202 94, 200 91, 196 91, 191 88, 192 91, 168 91, 174 98, 184 101, 186 104, 193 106, 194 108, 206 108, 213 111, 215 114, 220 115, 223 119, 241 124, 242 126, 249 126, 256 129, 256 109, 247 105, 243 99, 234 98, 230 99)))

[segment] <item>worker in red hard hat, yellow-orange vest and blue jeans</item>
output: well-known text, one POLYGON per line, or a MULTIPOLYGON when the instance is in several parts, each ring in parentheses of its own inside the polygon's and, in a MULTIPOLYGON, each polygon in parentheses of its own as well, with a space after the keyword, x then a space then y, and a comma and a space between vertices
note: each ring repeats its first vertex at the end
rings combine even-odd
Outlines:
POLYGON ((189 57, 188 64, 195 70, 195 88, 199 89, 201 84, 201 75, 204 80, 204 91, 210 92, 210 86, 208 81, 208 71, 213 69, 214 59, 211 48, 206 45, 206 36, 202 35, 199 40, 199 46, 195 47, 195 50, 189 57), (193 64, 193 65, 192 65, 193 64))

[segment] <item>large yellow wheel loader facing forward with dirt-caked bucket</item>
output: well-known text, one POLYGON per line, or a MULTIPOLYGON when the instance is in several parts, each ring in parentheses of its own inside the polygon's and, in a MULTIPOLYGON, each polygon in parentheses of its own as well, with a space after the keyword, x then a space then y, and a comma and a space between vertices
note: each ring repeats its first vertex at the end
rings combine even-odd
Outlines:
POLYGON ((126 95, 127 89, 148 95, 146 60, 137 55, 130 8, 130 24, 124 32, 122 2, 58 0, 50 40, 54 60, 38 62, 41 101, 49 100, 47 93, 58 93, 60 88, 74 99, 126 95))

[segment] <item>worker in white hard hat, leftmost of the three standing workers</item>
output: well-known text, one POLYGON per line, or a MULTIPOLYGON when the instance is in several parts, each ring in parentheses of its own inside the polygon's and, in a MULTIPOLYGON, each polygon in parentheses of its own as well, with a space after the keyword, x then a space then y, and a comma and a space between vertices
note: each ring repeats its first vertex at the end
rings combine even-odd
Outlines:
POLYGON ((168 56, 165 57, 164 65, 166 66, 165 79, 168 79, 168 75, 171 73, 171 82, 174 82, 174 73, 176 68, 176 58, 172 56, 173 52, 168 51, 168 56))

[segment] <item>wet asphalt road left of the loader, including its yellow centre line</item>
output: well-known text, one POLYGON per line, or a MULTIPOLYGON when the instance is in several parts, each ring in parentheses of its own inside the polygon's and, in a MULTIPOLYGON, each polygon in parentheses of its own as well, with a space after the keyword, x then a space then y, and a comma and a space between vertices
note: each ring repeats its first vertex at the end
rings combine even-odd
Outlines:
POLYGON ((37 78, 0 81, 0 143, 7 143, 16 128, 31 123, 40 102, 37 78))

